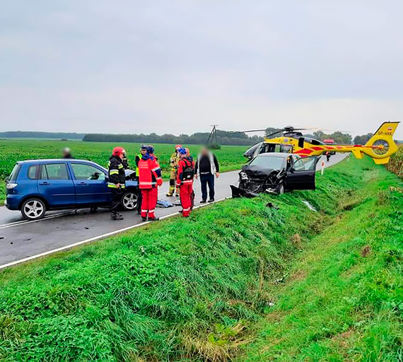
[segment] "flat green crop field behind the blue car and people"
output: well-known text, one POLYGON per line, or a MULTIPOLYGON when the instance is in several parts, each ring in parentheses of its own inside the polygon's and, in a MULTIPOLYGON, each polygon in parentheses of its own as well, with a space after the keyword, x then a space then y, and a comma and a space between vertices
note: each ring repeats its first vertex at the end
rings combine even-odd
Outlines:
MULTIPOLYGON (((134 167, 134 158, 139 153, 140 144, 112 144, 107 142, 82 141, 39 141, 39 140, 6 140, 0 139, 0 202, 4 200, 4 180, 10 175, 16 161, 37 158, 59 158, 63 147, 70 147, 75 158, 91 160, 106 167, 107 161, 115 146, 123 146, 127 151, 129 165, 134 167)), ((163 176, 169 177, 169 160, 175 145, 155 144, 156 156, 160 160, 163 176)), ((186 146, 186 145, 182 145, 186 146)), ((222 171, 236 170, 245 163, 243 153, 249 146, 222 146, 216 150, 222 171)), ((193 156, 197 155, 199 146, 190 145, 193 156)))

